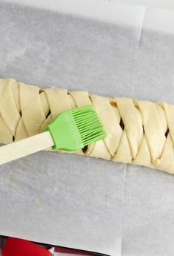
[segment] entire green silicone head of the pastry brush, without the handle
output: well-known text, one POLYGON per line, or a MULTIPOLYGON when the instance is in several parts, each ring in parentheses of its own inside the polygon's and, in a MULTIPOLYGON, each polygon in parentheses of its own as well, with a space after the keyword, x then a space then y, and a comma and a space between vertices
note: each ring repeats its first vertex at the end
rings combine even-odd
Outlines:
POLYGON ((64 151, 76 151, 106 137, 92 105, 62 112, 45 130, 53 137, 53 149, 64 151))

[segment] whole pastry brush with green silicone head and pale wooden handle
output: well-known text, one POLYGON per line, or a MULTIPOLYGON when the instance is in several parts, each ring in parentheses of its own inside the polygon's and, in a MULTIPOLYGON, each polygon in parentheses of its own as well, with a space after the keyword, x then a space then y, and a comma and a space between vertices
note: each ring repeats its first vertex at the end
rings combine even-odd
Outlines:
POLYGON ((58 114, 45 131, 0 147, 0 165, 52 147, 76 151, 106 137, 93 105, 58 114))

